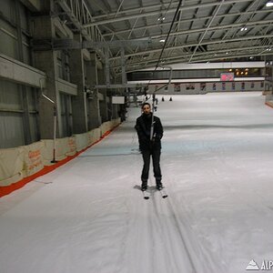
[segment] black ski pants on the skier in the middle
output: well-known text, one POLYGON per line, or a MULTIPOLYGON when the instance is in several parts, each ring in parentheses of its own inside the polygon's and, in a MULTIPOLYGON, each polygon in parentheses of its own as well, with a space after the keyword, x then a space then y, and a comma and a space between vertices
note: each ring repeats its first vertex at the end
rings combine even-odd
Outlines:
POLYGON ((149 168, 150 168, 150 158, 153 158, 153 167, 154 167, 154 176, 156 178, 157 182, 161 181, 161 169, 160 169, 160 154, 161 149, 147 149, 142 150, 142 157, 143 157, 143 169, 141 174, 141 181, 147 182, 147 179, 149 177, 149 168))

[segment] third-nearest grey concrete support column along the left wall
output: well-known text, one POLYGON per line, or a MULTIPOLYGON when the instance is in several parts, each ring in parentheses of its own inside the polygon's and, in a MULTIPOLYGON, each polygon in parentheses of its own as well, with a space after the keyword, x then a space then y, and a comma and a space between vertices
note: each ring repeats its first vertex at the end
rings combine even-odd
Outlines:
MULTIPOLYGON (((97 85, 97 66, 96 54, 90 54, 91 61, 86 65, 86 78, 89 86, 97 85)), ((88 104, 88 130, 94 129, 101 125, 101 117, 99 111, 98 90, 91 89, 91 99, 87 99, 88 104)))

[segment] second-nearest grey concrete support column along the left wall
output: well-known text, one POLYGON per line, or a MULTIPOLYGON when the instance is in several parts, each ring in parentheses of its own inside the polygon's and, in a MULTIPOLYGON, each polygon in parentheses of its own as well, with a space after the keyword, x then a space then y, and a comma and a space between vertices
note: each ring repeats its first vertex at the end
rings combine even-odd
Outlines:
MULTIPOLYGON (((81 35, 75 35, 76 41, 81 39, 81 35)), ((77 85, 77 96, 72 98, 73 133, 81 134, 88 131, 84 56, 82 49, 71 50, 70 54, 71 82, 77 85)))

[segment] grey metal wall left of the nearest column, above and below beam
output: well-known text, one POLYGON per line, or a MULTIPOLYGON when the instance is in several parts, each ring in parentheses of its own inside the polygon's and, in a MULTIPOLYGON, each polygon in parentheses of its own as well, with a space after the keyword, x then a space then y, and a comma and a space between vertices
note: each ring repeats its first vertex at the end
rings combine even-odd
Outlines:
MULTIPOLYGON (((1 1, 0 12, 0 53, 31 65, 25 6, 15 0, 1 1)), ((23 146, 39 139, 36 96, 35 88, 0 79, 0 148, 23 146)))

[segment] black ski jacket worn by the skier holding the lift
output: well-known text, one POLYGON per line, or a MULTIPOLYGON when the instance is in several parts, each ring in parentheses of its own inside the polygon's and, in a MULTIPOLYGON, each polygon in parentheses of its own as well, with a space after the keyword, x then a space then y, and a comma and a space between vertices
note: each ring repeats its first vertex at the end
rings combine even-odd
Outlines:
POLYGON ((151 126, 152 114, 142 114, 136 118, 135 128, 138 136, 139 149, 141 151, 161 148, 160 139, 163 136, 163 126, 159 117, 154 116, 154 136, 152 141, 150 140, 151 126))

